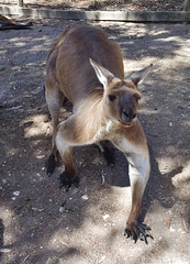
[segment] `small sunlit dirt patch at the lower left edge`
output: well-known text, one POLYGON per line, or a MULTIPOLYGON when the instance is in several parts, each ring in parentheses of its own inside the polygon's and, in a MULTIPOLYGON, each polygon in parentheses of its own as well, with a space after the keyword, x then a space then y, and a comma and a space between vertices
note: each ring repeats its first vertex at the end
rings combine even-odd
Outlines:
POLYGON ((12 244, 15 241, 15 235, 11 230, 11 226, 13 224, 16 228, 14 212, 5 206, 0 207, 0 219, 2 220, 3 224, 3 246, 8 244, 12 244), (14 223, 13 223, 14 222, 14 223))

